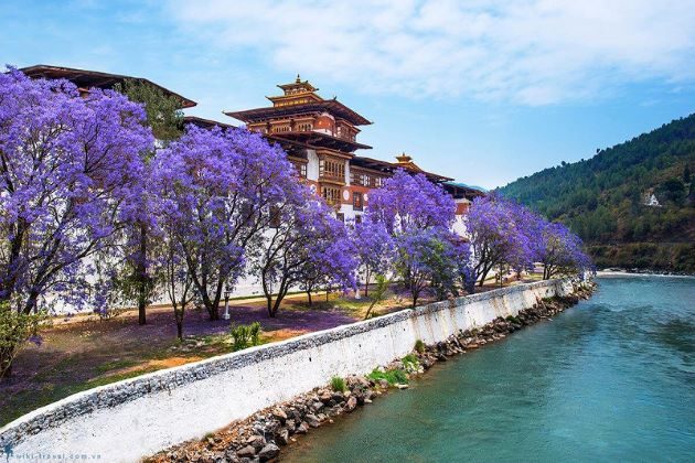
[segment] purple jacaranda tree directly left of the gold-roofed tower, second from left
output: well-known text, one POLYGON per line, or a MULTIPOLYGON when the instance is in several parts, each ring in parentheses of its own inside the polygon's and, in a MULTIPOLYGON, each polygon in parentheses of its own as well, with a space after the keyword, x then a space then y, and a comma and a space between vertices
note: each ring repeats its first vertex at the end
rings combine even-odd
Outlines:
POLYGON ((160 219, 174 227, 197 297, 217 320, 225 286, 244 273, 249 245, 295 189, 292 166, 258 133, 194 126, 152 164, 160 219))

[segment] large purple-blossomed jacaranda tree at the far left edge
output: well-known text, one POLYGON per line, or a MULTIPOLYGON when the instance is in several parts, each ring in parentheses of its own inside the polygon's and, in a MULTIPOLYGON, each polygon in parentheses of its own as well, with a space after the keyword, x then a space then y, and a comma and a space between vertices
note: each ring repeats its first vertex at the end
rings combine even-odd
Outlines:
MULTIPOLYGON (((122 227, 153 138, 140 106, 109 90, 0 74, 0 302, 82 308, 89 261, 122 227), (45 297, 50 295, 49 299, 45 297)), ((0 359, 0 362, 3 362, 0 359)))

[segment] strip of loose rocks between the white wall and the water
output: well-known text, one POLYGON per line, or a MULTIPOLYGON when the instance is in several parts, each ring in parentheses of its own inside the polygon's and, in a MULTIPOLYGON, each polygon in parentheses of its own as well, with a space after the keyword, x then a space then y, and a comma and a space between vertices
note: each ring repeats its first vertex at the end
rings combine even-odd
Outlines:
POLYGON ((406 389, 409 380, 425 374, 438 362, 447 362, 448 357, 480 348, 524 326, 548 320, 579 300, 588 299, 594 289, 595 284, 578 287, 571 295, 541 300, 514 316, 498 317, 479 329, 460 331, 432 345, 416 343, 411 354, 394 359, 368 375, 333 378, 330 385, 266 408, 202 440, 170 448, 146 461, 275 460, 281 456, 282 448, 291 451, 292 444, 312 429, 333 423, 340 416, 372 403, 391 390, 406 389))

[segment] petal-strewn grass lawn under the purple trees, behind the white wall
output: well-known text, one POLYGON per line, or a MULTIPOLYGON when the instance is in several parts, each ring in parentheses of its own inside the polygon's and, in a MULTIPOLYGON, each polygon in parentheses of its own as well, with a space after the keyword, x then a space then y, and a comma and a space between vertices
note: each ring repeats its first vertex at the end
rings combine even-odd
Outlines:
MULTIPOLYGON (((40 346, 29 344, 18 355, 12 376, 0 383, 0 426, 72 394, 131 378, 162 368, 183 365, 233 351, 229 324, 263 326, 261 343, 353 323, 364 317, 367 299, 354 300, 331 293, 289 297, 275 319, 268 317, 265 300, 231 301, 231 321, 207 319, 205 311, 189 311, 183 342, 177 340, 171 309, 148 310, 148 324, 140 326, 136 311, 110 320, 95 315, 55 317, 42 332, 40 346)), ((377 314, 407 306, 389 297, 377 314)), ((221 313, 224 308, 221 308, 221 313)))

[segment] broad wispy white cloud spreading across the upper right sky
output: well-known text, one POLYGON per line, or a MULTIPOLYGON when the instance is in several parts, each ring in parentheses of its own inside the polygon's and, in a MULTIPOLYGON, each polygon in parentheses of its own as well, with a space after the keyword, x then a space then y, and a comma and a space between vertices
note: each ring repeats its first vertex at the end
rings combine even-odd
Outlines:
POLYGON ((173 0, 218 53, 366 93, 545 105, 627 83, 695 79, 695 3, 683 0, 173 0))

